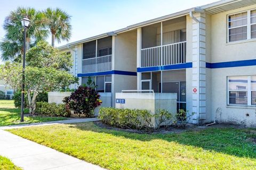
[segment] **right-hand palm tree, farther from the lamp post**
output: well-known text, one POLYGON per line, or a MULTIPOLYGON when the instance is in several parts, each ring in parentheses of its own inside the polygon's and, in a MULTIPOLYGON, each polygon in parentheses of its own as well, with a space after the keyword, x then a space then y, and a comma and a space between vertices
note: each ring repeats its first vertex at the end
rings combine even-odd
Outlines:
POLYGON ((47 27, 52 33, 52 46, 54 47, 55 39, 58 43, 60 43, 61 40, 68 41, 71 37, 71 16, 58 7, 55 10, 47 8, 44 11, 44 15, 47 20, 47 27))

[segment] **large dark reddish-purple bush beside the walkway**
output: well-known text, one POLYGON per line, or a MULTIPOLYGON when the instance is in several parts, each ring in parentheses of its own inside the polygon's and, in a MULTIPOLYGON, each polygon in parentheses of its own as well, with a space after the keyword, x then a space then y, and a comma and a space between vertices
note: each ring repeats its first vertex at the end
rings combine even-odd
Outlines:
POLYGON ((94 88, 83 86, 79 86, 70 96, 65 97, 63 102, 68 110, 79 117, 81 115, 94 117, 94 109, 102 103, 100 95, 94 88))

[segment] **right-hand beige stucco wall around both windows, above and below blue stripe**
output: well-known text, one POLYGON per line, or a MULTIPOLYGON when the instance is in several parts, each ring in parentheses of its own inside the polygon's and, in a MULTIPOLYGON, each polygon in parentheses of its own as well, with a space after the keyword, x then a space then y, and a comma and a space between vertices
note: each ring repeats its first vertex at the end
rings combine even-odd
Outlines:
MULTIPOLYGON (((227 43, 227 15, 255 7, 256 5, 247 6, 211 16, 211 63, 255 59, 256 39, 227 43)), ((256 66, 207 69, 211 70, 212 120, 217 116, 219 122, 256 125, 256 107, 228 106, 227 104, 227 77, 255 75, 255 69, 256 66), (216 114, 217 108, 220 108, 221 112, 216 114), (246 116, 246 113, 249 116, 246 116)), ((209 89, 209 84, 207 84, 207 89, 209 89)))

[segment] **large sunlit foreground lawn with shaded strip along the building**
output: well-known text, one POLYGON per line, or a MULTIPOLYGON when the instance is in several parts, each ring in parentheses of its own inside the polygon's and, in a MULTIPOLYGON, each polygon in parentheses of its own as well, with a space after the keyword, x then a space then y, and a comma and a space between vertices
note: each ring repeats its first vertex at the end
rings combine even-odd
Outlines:
POLYGON ((255 169, 256 129, 138 134, 92 122, 8 130, 107 169, 255 169))

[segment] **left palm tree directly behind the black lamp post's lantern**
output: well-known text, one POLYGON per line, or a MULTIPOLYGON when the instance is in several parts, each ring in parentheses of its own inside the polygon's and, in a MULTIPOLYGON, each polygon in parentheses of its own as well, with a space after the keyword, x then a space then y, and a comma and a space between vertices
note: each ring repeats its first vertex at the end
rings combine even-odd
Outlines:
POLYGON ((49 31, 45 29, 45 19, 42 12, 36 11, 34 8, 18 7, 12 11, 4 21, 5 36, 0 42, 2 50, 2 60, 13 60, 19 58, 23 53, 23 28, 21 19, 28 18, 30 20, 27 29, 26 48, 34 46, 38 41, 44 40, 49 35, 49 31))

